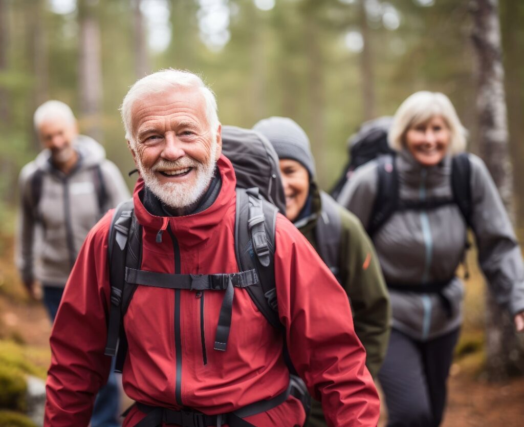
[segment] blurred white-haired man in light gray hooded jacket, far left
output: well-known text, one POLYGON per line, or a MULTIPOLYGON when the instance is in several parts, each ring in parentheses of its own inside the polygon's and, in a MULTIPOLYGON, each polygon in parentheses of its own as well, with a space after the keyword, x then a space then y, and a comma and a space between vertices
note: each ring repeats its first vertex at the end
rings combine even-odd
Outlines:
MULTIPOLYGON (((43 103, 35 111, 34 124, 43 151, 20 172, 16 261, 32 298, 37 283, 41 285, 53 322, 85 236, 108 209, 130 195, 118 168, 105 158, 104 148, 79 135, 67 104, 43 103)), ((119 425, 119 399, 112 375, 96 401, 92 427, 119 425)))

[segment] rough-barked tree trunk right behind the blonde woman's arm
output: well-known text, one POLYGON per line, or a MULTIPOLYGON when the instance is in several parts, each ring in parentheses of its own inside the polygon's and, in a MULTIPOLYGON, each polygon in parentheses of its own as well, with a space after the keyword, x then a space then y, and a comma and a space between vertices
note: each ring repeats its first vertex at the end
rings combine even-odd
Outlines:
MULTIPOLYGON (((497 0, 472 0, 472 40, 478 59, 479 148, 500 192, 509 216, 512 205, 512 170, 508 155, 508 125, 504 91, 504 67, 500 43, 497 0)), ((522 371, 522 340, 514 332, 512 319, 492 295, 486 296, 486 361, 488 377, 505 380, 522 371)))

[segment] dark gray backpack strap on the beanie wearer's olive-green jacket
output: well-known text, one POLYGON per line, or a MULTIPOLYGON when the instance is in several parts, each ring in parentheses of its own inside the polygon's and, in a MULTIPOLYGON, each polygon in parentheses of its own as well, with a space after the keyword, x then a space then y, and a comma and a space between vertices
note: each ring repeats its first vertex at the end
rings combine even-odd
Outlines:
POLYGON ((320 192, 320 199, 322 210, 319 218, 316 220, 316 242, 319 246, 320 257, 340 283, 339 255, 342 222, 339 207, 337 202, 324 191, 320 192))

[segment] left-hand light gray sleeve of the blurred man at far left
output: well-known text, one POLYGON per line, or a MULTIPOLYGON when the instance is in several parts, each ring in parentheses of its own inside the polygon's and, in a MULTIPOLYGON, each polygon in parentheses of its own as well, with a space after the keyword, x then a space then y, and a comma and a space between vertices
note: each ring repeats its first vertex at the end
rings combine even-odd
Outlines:
MULTIPOLYGON (((34 276, 34 248, 36 218, 34 204, 31 200, 31 164, 20 172, 18 188, 20 190, 20 205, 17 218, 17 239, 15 263, 24 282, 31 282, 34 276)), ((34 171, 33 171, 34 172, 34 171)))

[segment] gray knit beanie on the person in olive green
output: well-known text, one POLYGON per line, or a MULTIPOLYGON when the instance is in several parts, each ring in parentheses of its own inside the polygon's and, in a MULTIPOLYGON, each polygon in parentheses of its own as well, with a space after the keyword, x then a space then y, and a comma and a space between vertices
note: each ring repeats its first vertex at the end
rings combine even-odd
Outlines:
POLYGON ((296 160, 308 170, 311 178, 315 176, 308 135, 296 122, 287 117, 270 117, 260 120, 253 129, 268 138, 278 158, 296 160))

